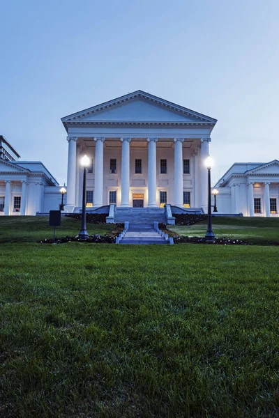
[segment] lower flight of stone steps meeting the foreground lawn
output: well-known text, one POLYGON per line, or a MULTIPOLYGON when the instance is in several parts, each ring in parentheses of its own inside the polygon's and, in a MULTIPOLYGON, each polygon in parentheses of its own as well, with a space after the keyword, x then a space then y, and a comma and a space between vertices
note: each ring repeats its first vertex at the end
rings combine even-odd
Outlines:
POLYGON ((161 237, 151 224, 130 224, 120 244, 169 244, 169 242, 161 237))

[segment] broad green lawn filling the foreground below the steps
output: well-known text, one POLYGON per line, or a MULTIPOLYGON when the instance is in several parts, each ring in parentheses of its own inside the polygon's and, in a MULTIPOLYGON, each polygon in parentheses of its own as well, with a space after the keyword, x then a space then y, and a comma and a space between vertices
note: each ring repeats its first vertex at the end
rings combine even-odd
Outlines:
POLYGON ((40 245, 15 221, 0 417, 278 416, 279 247, 40 245))

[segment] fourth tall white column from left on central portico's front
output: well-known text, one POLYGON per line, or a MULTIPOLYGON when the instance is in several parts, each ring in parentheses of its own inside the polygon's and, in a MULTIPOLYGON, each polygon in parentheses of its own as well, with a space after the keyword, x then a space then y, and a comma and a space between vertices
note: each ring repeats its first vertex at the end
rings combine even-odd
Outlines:
POLYGON ((156 208, 157 191, 157 172, 156 172, 156 142, 158 138, 147 138, 149 143, 149 161, 148 161, 148 207, 156 208))

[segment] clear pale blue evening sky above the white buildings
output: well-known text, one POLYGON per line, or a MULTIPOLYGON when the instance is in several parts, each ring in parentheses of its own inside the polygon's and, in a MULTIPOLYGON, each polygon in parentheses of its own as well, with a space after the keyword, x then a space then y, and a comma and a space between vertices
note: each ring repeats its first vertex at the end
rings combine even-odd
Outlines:
POLYGON ((60 118, 138 89, 218 119, 213 180, 279 159, 278 0, 16 0, 0 15, 0 133, 59 183, 60 118))

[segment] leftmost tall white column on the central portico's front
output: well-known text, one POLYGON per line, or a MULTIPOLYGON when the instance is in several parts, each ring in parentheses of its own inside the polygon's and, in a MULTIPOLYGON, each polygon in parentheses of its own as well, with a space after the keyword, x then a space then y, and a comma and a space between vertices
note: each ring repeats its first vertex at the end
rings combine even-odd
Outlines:
POLYGON ((75 171, 77 164, 77 137, 68 137, 68 173, 67 173, 67 203, 66 212, 75 209, 75 171))

